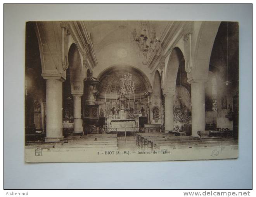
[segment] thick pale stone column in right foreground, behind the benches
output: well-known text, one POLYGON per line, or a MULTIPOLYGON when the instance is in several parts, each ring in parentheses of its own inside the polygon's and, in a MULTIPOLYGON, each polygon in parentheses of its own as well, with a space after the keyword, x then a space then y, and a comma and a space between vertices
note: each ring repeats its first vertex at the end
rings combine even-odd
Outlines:
POLYGON ((191 84, 192 136, 198 136, 197 131, 205 130, 205 80, 188 80, 188 82, 191 84))

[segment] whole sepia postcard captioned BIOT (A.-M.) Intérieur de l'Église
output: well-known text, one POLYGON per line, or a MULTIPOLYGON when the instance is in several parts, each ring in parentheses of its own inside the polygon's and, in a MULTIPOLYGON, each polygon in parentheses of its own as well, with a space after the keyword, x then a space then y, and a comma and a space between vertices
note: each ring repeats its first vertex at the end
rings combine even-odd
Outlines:
POLYGON ((26 23, 25 161, 238 157, 239 24, 26 23))

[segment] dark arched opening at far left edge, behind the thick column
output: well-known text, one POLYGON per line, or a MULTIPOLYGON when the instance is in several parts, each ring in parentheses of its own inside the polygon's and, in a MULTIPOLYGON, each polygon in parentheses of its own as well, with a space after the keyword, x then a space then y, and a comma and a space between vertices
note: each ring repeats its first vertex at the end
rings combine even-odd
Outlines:
POLYGON ((26 23, 25 55, 25 132, 35 128, 44 131, 46 84, 42 77, 40 46, 34 22, 26 23))

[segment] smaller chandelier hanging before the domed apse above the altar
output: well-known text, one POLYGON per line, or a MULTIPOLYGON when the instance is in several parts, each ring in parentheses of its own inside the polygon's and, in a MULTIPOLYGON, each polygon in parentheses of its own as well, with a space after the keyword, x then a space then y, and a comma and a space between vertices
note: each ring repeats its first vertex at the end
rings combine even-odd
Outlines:
POLYGON ((134 81, 132 80, 132 75, 130 73, 125 73, 120 79, 120 92, 121 94, 134 94, 135 87, 134 81))

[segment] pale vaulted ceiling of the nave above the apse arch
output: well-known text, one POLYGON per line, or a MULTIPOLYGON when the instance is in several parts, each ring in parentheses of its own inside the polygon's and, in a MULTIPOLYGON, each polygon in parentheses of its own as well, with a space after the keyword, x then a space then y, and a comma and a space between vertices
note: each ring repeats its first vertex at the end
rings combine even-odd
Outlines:
MULTIPOLYGON (((156 29, 159 39, 167 24, 168 21, 149 21, 150 27, 156 29)), ((97 67, 93 70, 96 77, 110 66, 129 65, 143 70, 145 75, 151 78, 150 69, 142 64, 144 56, 139 53, 131 34, 134 28, 137 35, 140 34, 140 21, 84 21, 84 25, 92 40, 98 61, 97 67)), ((150 82, 152 83, 151 79, 150 82)))

